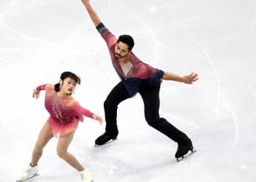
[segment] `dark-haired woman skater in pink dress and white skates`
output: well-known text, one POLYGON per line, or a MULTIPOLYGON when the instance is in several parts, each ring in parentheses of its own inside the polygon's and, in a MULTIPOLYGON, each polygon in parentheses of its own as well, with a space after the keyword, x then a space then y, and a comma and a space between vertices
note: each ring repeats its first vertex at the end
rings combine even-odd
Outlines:
POLYGON ((57 154, 69 165, 74 167, 81 175, 81 181, 93 181, 91 174, 86 170, 78 159, 70 154, 67 149, 78 127, 78 122, 83 122, 83 116, 90 117, 102 124, 102 117, 92 113, 79 105, 78 101, 72 98, 72 92, 76 84, 80 84, 80 78, 75 74, 66 71, 61 74, 58 84, 42 84, 33 92, 34 98, 39 98, 41 90, 45 90, 45 108, 50 117, 42 127, 34 146, 32 159, 29 168, 20 175, 18 181, 26 181, 37 175, 39 167, 37 162, 42 156, 42 150, 53 136, 59 138, 57 154))

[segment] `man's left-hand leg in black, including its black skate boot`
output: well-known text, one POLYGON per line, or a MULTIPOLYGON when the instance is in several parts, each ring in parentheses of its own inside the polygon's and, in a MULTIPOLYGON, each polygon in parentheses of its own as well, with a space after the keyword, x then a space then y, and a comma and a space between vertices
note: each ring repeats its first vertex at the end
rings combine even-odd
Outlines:
POLYGON ((116 139, 118 135, 118 127, 116 124, 118 104, 127 98, 129 98, 129 94, 124 87, 124 84, 119 82, 116 87, 111 90, 110 94, 104 102, 106 129, 105 133, 96 139, 96 145, 103 145, 112 139, 116 139))

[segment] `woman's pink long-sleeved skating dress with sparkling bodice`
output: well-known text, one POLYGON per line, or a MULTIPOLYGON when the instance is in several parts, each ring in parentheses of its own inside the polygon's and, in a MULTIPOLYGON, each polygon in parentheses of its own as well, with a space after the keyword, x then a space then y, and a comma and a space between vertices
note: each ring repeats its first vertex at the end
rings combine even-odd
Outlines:
POLYGON ((71 95, 60 98, 52 84, 42 84, 37 87, 37 90, 45 90, 45 108, 50 114, 47 122, 56 137, 76 130, 78 122, 83 122, 83 116, 90 118, 94 116, 91 111, 80 106, 71 95))

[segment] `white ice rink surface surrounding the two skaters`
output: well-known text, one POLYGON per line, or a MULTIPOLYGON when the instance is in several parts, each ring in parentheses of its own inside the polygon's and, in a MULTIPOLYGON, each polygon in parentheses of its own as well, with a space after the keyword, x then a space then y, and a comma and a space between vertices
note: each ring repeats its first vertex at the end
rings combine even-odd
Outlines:
MULTIPOLYGON (((135 39, 144 62, 176 74, 196 71, 192 85, 162 83, 160 114, 192 138, 197 153, 177 163, 176 143, 146 124, 140 95, 118 108, 118 141, 94 148, 105 130, 80 123, 69 151, 95 182, 255 181, 256 1, 95 0, 94 9, 116 36, 135 39)), ((15 181, 29 165, 48 118, 39 84, 63 71, 82 79, 74 97, 104 116, 103 102, 118 83, 105 42, 80 1, 0 1, 0 181, 15 181)), ((46 146, 39 177, 78 181, 46 146)))

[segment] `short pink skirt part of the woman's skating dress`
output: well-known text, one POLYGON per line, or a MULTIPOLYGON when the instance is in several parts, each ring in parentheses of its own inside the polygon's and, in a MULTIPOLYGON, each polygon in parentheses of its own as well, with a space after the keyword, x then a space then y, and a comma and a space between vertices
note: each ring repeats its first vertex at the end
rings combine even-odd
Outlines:
POLYGON ((79 120, 75 118, 71 122, 61 123, 58 120, 54 119, 52 116, 50 116, 47 122, 52 128, 53 136, 59 138, 64 135, 68 135, 70 132, 76 130, 78 128, 79 120))

